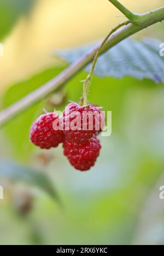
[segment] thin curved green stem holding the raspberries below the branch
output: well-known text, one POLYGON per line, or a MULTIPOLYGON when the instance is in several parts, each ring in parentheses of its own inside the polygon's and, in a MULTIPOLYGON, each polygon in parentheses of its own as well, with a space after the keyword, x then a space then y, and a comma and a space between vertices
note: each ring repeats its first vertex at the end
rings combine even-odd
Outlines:
POLYGON ((104 40, 102 41, 101 45, 98 47, 97 49, 97 52, 95 54, 95 58, 93 59, 93 64, 92 64, 92 67, 91 67, 91 70, 90 70, 90 73, 89 75, 87 75, 86 77, 86 80, 84 82, 84 85, 83 85, 83 98, 84 98, 84 101, 83 101, 83 105, 87 105, 87 91, 89 89, 89 86, 91 84, 91 79, 92 79, 92 76, 93 76, 93 72, 95 70, 95 66, 96 66, 96 62, 97 62, 97 59, 99 57, 99 54, 101 53, 102 51, 102 48, 104 46, 104 44, 106 44, 108 38, 116 31, 118 30, 120 27, 122 26, 125 26, 127 24, 129 24, 130 21, 127 20, 125 21, 124 23, 121 23, 119 24, 118 26, 114 27, 114 29, 110 30, 110 32, 108 33, 108 35, 104 38, 104 40))

